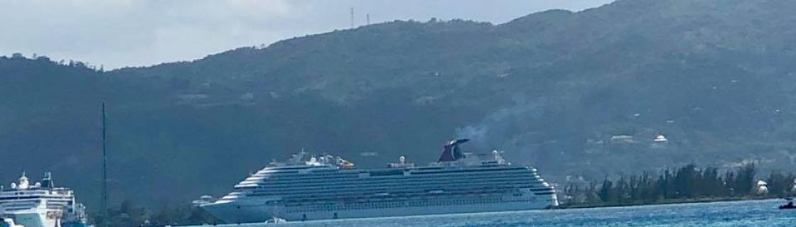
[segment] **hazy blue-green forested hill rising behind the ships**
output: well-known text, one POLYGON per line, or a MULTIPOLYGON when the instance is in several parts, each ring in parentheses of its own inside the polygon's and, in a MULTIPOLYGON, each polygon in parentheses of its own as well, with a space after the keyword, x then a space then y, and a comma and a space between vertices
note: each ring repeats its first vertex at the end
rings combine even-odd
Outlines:
POLYGON ((220 195, 302 148, 361 167, 423 164, 453 137, 555 183, 689 163, 794 170, 793 12, 787 0, 620 0, 501 25, 393 21, 114 71, 2 57, 0 178, 53 171, 95 205, 102 101, 116 202, 220 195))

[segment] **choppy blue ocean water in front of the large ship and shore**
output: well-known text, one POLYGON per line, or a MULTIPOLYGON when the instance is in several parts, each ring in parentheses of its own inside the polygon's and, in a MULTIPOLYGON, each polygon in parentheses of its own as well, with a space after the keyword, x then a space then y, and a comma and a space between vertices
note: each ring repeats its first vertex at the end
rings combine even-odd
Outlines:
POLYGON ((796 226, 796 209, 777 209, 783 202, 781 199, 708 202, 219 226, 796 226))

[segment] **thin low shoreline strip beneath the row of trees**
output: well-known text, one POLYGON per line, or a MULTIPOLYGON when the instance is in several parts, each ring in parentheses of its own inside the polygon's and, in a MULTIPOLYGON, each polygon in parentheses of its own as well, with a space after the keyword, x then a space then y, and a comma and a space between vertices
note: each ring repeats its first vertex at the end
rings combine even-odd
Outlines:
POLYGON ((611 203, 611 204, 577 203, 572 205, 561 205, 556 207, 556 209, 568 210, 568 209, 599 208, 599 207, 648 206, 648 205, 706 203, 706 202, 735 202, 735 201, 751 201, 751 200, 767 200, 767 199, 782 199, 782 198, 778 197, 675 198, 675 199, 665 199, 656 202, 631 202, 631 203, 611 203))

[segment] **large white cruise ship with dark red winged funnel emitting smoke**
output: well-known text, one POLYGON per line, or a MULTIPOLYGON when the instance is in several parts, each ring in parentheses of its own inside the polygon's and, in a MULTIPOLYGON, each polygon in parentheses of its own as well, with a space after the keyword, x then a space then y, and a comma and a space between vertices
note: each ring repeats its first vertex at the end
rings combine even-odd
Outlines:
POLYGON ((442 156, 427 166, 399 162, 377 169, 357 169, 334 156, 294 155, 272 162, 212 201, 195 201, 227 223, 338 218, 393 217, 558 206, 555 188, 533 167, 506 162, 501 152, 465 153, 445 144, 442 156))

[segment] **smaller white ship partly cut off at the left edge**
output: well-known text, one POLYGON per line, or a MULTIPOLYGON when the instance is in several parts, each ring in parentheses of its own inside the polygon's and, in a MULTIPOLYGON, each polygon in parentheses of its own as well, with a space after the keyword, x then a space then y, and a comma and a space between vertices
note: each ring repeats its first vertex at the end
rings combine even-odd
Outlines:
POLYGON ((45 172, 41 183, 30 183, 25 173, 9 188, 0 187, 0 217, 6 225, 25 227, 83 227, 85 207, 71 189, 55 187, 45 172))

